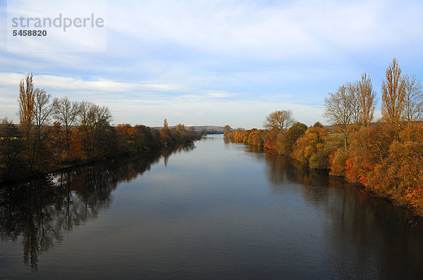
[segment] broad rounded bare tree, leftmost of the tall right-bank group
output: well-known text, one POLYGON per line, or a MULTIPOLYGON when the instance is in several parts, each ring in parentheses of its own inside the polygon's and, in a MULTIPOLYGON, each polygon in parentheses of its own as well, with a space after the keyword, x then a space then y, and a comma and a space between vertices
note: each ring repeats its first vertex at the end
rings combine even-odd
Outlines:
POLYGON ((353 117, 353 96, 348 91, 348 86, 342 85, 335 93, 329 93, 324 98, 324 117, 327 117, 333 125, 343 130, 345 148, 348 146, 348 125, 353 117))

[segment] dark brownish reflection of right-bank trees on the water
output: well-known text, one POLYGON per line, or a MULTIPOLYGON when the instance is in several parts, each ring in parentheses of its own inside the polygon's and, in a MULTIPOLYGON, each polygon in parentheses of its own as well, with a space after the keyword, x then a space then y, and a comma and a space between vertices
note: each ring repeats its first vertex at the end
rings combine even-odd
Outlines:
MULTIPOLYGON (((336 278, 418 279, 423 267, 423 227, 409 210, 372 196, 358 184, 310 170, 291 158, 247 147, 265 158, 272 191, 299 186, 304 201, 324 216, 326 265, 336 278), (336 257, 334 257, 336 256, 336 257), (342 257, 345 256, 343 259, 342 257)), ((323 256, 322 256, 323 257, 323 256)))

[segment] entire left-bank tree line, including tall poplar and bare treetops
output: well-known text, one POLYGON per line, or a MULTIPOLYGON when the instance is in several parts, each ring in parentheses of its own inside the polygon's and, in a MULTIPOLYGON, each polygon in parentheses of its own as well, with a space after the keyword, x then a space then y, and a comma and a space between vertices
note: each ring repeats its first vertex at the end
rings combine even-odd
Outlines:
POLYGON ((20 81, 18 104, 19 125, 7 118, 0 123, 0 182, 200 138, 181 124, 169 128, 166 119, 160 130, 111 125, 113 117, 106 106, 53 98, 34 87, 32 73, 20 81))

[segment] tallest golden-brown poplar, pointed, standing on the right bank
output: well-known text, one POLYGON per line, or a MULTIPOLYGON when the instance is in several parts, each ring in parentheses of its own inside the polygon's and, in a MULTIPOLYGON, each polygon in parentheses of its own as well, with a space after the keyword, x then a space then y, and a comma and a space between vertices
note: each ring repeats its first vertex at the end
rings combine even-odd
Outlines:
POLYGON ((405 105, 405 82, 395 58, 386 68, 385 76, 386 79, 382 81, 382 115, 386 122, 398 123, 405 105))

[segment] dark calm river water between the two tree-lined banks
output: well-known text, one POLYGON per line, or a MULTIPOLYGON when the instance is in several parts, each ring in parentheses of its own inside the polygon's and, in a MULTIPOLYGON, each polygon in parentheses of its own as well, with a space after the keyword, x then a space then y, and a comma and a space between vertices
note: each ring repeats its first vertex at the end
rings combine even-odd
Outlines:
POLYGON ((0 279, 422 279, 405 210, 229 144, 118 159, 0 193, 0 279))

